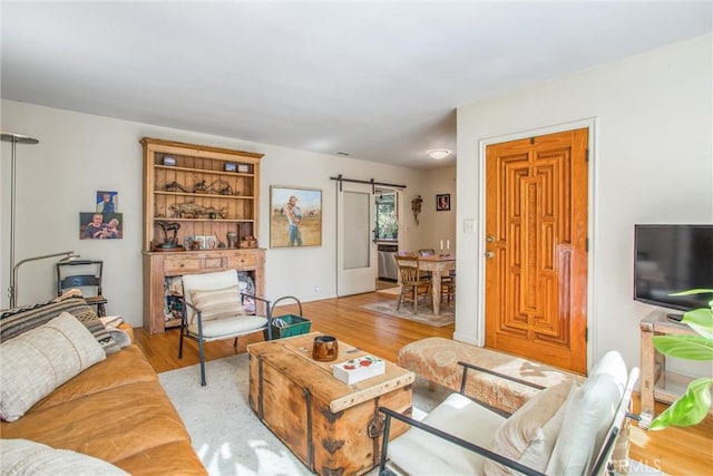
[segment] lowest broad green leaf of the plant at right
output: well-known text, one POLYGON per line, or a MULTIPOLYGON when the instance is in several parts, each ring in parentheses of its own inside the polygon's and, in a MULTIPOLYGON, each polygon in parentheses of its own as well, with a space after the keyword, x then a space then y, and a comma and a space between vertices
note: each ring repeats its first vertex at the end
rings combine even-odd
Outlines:
POLYGON ((713 378, 703 377, 692 381, 684 395, 651 422, 649 430, 671 426, 690 427, 700 424, 711 408, 713 378))

